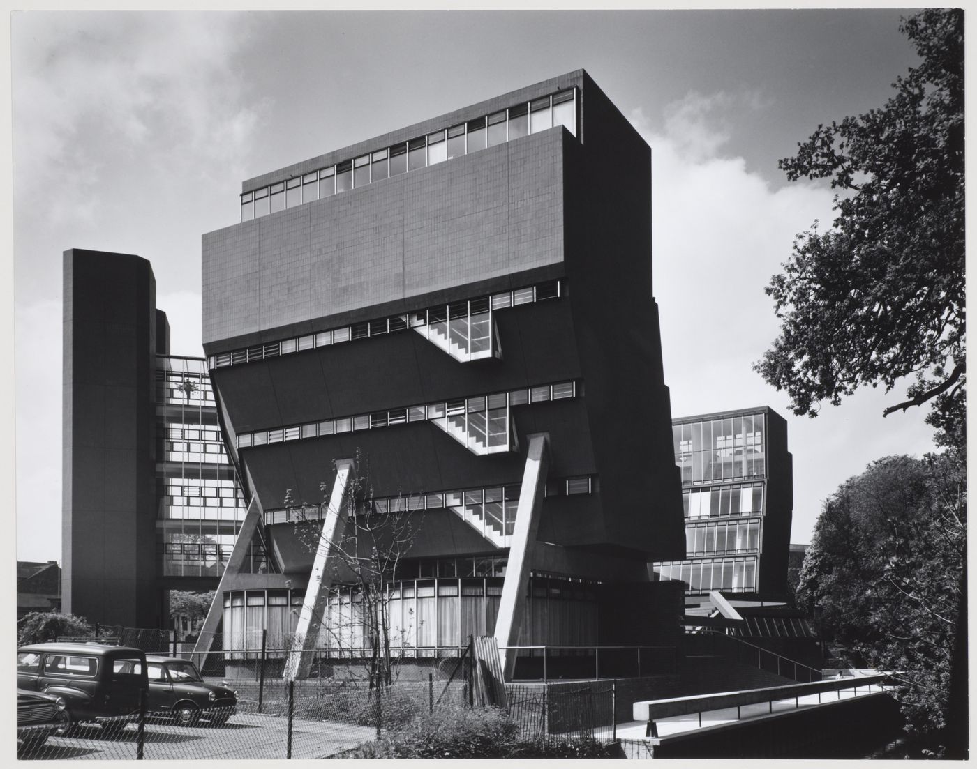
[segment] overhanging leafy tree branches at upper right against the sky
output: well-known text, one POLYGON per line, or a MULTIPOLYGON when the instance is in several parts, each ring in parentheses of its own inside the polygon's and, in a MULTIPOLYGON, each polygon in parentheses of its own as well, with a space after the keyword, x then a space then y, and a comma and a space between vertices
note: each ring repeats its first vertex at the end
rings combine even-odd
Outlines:
POLYGON ((840 190, 828 231, 800 234, 766 292, 781 333, 754 368, 817 415, 860 385, 886 391, 914 375, 944 445, 965 420, 963 12, 928 9, 901 31, 922 59, 880 109, 820 125, 780 161, 791 182, 840 190))

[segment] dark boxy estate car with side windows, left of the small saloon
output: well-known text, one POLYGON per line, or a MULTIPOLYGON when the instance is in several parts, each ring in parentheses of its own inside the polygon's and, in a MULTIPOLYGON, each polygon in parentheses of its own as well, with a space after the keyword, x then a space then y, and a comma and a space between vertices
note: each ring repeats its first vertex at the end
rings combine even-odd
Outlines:
POLYGON ((118 729, 135 718, 139 692, 149 689, 146 654, 128 646, 32 643, 18 649, 17 685, 63 698, 72 723, 118 729))

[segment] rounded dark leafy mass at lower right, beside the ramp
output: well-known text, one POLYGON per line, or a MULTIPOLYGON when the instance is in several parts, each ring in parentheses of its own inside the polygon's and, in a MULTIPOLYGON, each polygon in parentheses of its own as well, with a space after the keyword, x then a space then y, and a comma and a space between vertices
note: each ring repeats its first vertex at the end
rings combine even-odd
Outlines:
POLYGON ((846 481, 804 559, 801 608, 851 664, 895 672, 918 732, 947 723, 965 560, 966 472, 953 451, 888 457, 846 481))

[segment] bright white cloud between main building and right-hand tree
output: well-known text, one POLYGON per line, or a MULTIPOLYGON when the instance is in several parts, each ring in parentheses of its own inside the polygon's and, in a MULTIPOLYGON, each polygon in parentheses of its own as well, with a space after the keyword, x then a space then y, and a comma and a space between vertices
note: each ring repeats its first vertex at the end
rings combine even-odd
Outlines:
POLYGON ((888 398, 865 390, 816 420, 794 417, 786 396, 751 363, 777 336, 764 287, 790 256, 796 233, 830 223, 823 186, 777 190, 724 156, 726 114, 762 105, 755 94, 689 94, 665 107, 662 129, 640 110, 635 128, 652 147, 654 285, 661 322, 665 384, 672 414, 687 416, 769 405, 788 422, 794 455, 793 542, 808 542, 822 501, 865 465, 894 452, 932 447, 925 412, 890 417, 888 398))

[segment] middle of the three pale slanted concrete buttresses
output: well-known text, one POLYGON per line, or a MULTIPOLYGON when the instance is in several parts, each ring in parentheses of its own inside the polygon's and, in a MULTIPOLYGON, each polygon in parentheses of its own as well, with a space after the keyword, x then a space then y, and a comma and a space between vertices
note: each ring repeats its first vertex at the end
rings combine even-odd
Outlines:
POLYGON ((325 605, 326 592, 332 585, 332 574, 326 567, 332 565, 332 556, 346 528, 346 510, 343 508, 343 500, 346 497, 346 485, 352 470, 353 460, 336 462, 336 480, 332 484, 332 494, 329 496, 325 520, 322 521, 316 558, 313 561, 312 574, 309 575, 309 587, 306 587, 299 624, 292 635, 292 648, 288 652, 288 659, 281 673, 281 677, 285 680, 309 676, 312 658, 304 652, 315 648, 316 641, 319 639, 319 626, 322 624, 321 609, 325 605))

